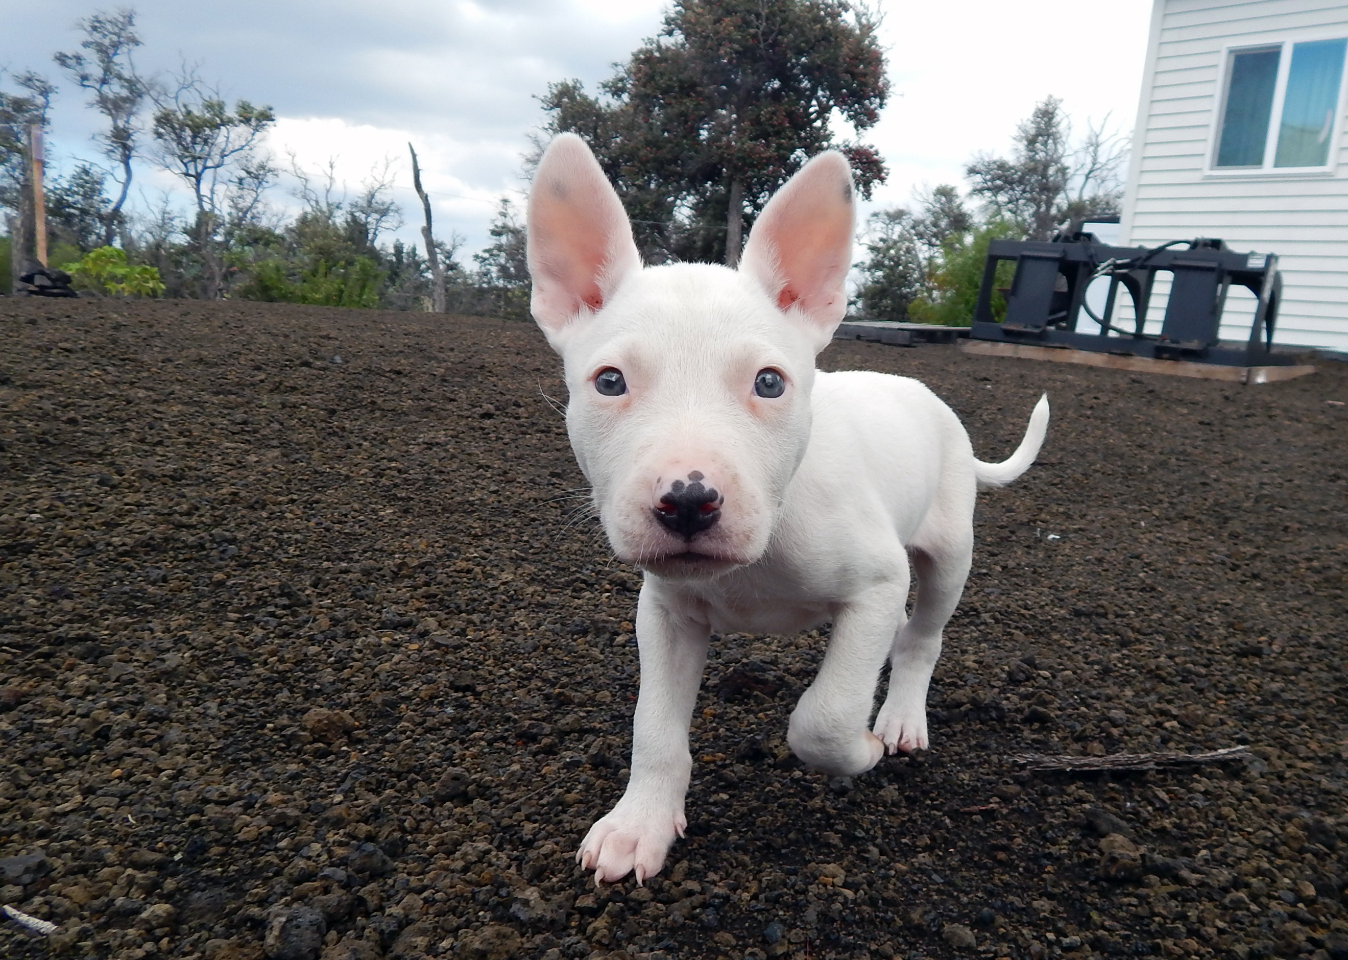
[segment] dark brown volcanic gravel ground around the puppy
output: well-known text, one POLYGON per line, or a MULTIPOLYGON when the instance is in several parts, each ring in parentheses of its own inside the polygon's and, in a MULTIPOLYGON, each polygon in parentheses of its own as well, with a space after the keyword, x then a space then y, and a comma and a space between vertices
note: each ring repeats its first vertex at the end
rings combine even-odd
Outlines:
POLYGON ((799 769, 824 638, 720 636, 689 836, 594 890, 640 574, 576 519, 537 330, 0 299, 0 901, 59 925, 5 957, 1348 957, 1348 365, 830 347, 983 458, 1054 404, 980 499, 933 748, 799 769))

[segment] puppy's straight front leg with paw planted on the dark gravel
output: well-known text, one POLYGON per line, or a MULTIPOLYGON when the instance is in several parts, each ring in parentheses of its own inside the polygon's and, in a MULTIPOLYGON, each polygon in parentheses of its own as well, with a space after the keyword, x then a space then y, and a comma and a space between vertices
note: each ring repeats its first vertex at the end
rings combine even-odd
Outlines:
POLYGON ((658 596, 650 581, 636 608, 642 689, 632 723, 632 775, 607 817, 590 827, 576 859, 596 880, 654 876, 687 818, 683 797, 693 770, 687 728, 706 663, 710 630, 658 596))

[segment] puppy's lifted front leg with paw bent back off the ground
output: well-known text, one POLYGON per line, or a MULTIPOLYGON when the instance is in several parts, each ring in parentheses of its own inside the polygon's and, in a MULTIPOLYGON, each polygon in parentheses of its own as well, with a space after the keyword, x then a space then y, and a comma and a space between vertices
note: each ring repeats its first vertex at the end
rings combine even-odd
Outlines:
POLYGON ((903 619, 909 592, 907 558, 898 576, 848 604, 834 619, 820 674, 791 713, 787 740, 805 763, 849 777, 884 756, 884 744, 867 728, 875 685, 903 619))

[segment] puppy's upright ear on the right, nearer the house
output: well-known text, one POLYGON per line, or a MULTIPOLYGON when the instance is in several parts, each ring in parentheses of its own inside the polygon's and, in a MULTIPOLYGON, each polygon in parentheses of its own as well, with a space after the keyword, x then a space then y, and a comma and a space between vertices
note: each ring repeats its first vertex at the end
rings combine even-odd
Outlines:
POLYGON ((852 232, 852 169, 830 150, 806 163, 763 208, 740 270, 763 284, 779 309, 799 310, 832 336, 847 313, 852 232))

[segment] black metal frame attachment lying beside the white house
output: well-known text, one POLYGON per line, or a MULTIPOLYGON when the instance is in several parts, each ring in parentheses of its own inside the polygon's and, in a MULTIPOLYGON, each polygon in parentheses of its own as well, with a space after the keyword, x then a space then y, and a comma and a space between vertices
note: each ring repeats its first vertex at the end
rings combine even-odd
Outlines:
POLYGON ((1192 360, 1231 367, 1286 365, 1293 356, 1273 352, 1274 324, 1282 301, 1282 274, 1274 253, 1236 253, 1221 240, 1198 239, 1186 249, 1109 247, 1091 233, 1064 241, 993 240, 983 267, 983 284, 969 336, 1010 344, 1034 344, 1165 360, 1192 360), (998 264, 1014 260, 1015 278, 1006 293, 1002 322, 992 314, 998 264), (1173 274, 1159 334, 1143 333, 1147 303, 1159 271, 1173 274), (1086 287, 1109 278, 1104 314, 1085 303, 1086 287), (1227 291, 1236 283, 1256 298, 1250 340, 1243 347, 1217 338, 1227 291), (1132 298, 1135 329, 1113 324, 1119 287, 1132 298), (1081 314, 1099 333, 1077 332, 1081 314), (1111 336, 1111 333, 1117 336, 1111 336))

